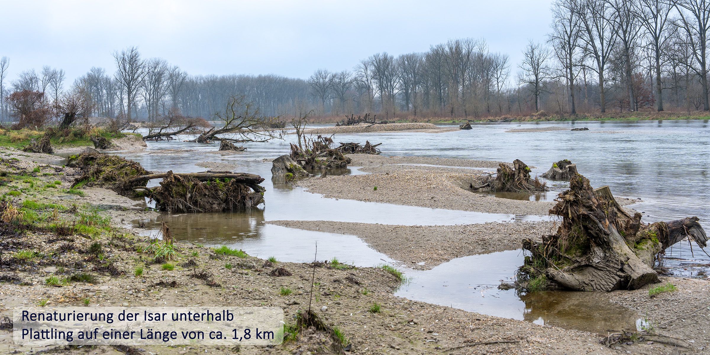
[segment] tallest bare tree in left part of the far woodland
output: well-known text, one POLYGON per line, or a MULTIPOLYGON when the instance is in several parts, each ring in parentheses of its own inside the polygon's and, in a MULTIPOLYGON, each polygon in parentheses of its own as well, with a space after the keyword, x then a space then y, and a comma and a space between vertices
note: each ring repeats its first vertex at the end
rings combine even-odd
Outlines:
MULTIPOLYGON (((114 52, 116 60, 116 82, 126 93, 126 120, 131 122, 131 106, 133 106, 138 88, 141 87, 143 77, 146 76, 146 64, 141 59, 138 48, 129 47, 124 50, 114 52)), ((123 103, 121 102, 121 105, 123 103)))

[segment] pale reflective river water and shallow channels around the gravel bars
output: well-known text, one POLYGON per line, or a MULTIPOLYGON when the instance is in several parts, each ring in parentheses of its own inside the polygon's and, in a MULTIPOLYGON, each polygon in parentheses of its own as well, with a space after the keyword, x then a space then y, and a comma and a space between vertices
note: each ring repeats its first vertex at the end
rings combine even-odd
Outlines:
MULTIPOLYGON (((552 162, 568 158, 592 185, 609 185, 615 195, 640 198, 633 208, 643 212, 645 222, 698 216, 710 230, 710 127, 707 121, 622 121, 535 124, 474 124, 470 131, 449 133, 360 133, 343 134, 336 142, 383 142, 383 155, 422 155, 444 158, 512 161, 516 158, 536 166, 541 174, 552 162), (586 126, 589 131, 505 133, 508 129, 535 126, 586 126), (682 162, 679 163, 679 162, 682 162)), ((355 266, 397 263, 371 249, 356 236, 305 231, 264 224, 273 220, 329 220, 403 225, 450 225, 484 222, 515 222, 547 219, 542 216, 487 214, 430 209, 376 202, 326 199, 300 187, 271 182, 271 163, 264 159, 288 153, 288 142, 246 144, 241 154, 220 155, 217 145, 178 141, 148 142, 140 154, 121 154, 147 170, 204 171, 202 161, 236 163, 235 171, 266 178, 266 206, 248 213, 174 214, 141 221, 148 234, 157 234, 160 220, 168 222, 180 240, 208 246, 226 244, 253 256, 275 256, 280 261, 313 260, 317 243, 319 260, 338 258, 355 266), (165 149, 190 150, 155 154, 165 149)), ((351 167, 340 173, 361 173, 351 167)), ((153 181, 157 183, 157 181, 153 181)), ((566 183, 552 182, 552 192, 542 195, 498 197, 552 200, 566 183)), ((136 222, 137 224, 138 222, 136 222)), ((710 258, 687 243, 667 252, 668 273, 706 278, 710 258)), ((501 280, 510 280, 523 263, 521 251, 503 251, 457 258, 429 271, 405 269, 409 282, 397 295, 486 315, 555 324, 570 329, 606 332, 632 328, 640 315, 614 305, 594 293, 549 292, 516 295, 498 290, 501 280)), ((398 266, 400 267, 400 266, 398 266)))

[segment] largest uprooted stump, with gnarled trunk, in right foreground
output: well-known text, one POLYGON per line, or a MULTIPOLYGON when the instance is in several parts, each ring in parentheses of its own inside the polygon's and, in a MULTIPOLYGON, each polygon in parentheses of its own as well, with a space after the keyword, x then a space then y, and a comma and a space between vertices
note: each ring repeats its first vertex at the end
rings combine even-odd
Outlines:
POLYGON ((697 217, 645 224, 639 213, 624 211, 608 187, 593 190, 579 174, 556 201, 550 214, 562 217, 557 233, 523 239, 531 253, 518 270, 525 290, 635 290, 658 282, 652 267, 667 247, 685 237, 701 248, 707 243, 697 217))

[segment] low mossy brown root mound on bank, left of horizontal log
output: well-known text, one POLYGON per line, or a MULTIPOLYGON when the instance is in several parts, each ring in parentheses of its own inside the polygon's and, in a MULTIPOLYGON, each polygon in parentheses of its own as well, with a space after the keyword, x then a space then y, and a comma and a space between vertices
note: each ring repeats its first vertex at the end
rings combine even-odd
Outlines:
POLYGON ((131 178, 150 174, 141 164, 132 160, 92 151, 70 156, 67 166, 82 170, 82 175, 75 179, 72 187, 83 185, 104 187, 124 196, 133 195, 133 189, 143 183, 129 181, 131 178))

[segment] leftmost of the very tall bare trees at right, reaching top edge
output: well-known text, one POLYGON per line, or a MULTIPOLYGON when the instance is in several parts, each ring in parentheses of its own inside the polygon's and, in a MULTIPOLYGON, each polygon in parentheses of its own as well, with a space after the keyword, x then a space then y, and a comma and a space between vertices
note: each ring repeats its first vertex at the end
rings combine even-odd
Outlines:
POLYGON ((577 114, 574 102, 575 67, 579 65, 577 50, 581 26, 579 19, 580 0, 557 0, 552 4, 552 33, 550 42, 555 49, 555 55, 562 65, 564 78, 569 87, 569 108, 571 114, 577 114))

